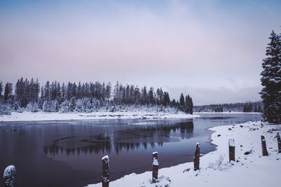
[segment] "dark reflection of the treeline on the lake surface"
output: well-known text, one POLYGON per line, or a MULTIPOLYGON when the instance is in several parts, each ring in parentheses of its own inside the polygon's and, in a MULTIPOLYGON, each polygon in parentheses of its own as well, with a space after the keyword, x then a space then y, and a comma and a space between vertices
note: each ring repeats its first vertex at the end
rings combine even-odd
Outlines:
POLYGON ((184 123, 152 123, 131 125, 131 128, 93 136, 72 136, 55 139, 51 145, 43 146, 47 155, 81 155, 89 153, 119 153, 136 150, 143 146, 163 146, 165 142, 180 141, 193 136, 193 121, 184 123))

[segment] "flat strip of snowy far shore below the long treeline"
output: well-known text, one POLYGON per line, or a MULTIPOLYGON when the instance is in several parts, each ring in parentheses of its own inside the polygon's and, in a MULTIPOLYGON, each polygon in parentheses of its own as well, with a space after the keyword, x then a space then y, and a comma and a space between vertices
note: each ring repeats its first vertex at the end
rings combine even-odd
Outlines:
POLYGON ((190 115, 183 112, 153 112, 153 111, 100 111, 93 113, 47 113, 12 112, 10 116, 0 116, 0 122, 5 121, 37 121, 37 120, 102 120, 102 119, 181 119, 181 118, 197 118, 200 115, 190 115))

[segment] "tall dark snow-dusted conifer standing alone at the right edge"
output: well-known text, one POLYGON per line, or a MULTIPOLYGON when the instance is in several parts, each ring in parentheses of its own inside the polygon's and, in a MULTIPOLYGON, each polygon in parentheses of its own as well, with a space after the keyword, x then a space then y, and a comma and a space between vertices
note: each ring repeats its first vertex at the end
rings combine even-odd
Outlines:
POLYGON ((262 114, 270 123, 281 123, 281 36, 273 31, 269 39, 261 71, 262 114))

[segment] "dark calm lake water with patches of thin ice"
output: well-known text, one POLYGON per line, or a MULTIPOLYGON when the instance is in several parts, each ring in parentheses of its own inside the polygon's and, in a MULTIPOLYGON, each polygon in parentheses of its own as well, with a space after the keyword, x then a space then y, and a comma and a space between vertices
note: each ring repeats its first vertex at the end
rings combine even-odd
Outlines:
POLYGON ((153 151, 159 152, 160 167, 191 161, 197 142, 203 154, 213 151, 209 127, 261 120, 259 114, 201 116, 0 123, 0 171, 15 165, 20 186, 85 186, 100 182, 103 155, 110 155, 114 180, 150 170, 153 151))

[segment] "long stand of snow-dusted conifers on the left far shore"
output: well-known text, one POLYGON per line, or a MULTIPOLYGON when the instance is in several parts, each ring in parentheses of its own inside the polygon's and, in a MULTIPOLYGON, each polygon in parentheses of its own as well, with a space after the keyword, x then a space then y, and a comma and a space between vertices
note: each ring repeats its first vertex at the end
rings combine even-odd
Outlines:
MULTIPOLYGON (((0 82, 0 104, 12 111, 60 111, 92 112, 104 109, 115 111, 123 106, 157 106, 157 110, 173 108, 185 113, 192 113, 192 98, 181 94, 179 101, 170 99, 169 92, 162 88, 149 89, 138 85, 117 83, 59 83, 47 81, 40 87, 39 81, 18 79, 13 88, 12 83, 4 86, 0 82), (13 91, 14 89, 14 91, 13 91), (159 107, 158 107, 159 106, 159 107)), ((3 111, 3 109, 2 109, 3 111)), ((3 113, 3 112, 2 112, 3 113)))

